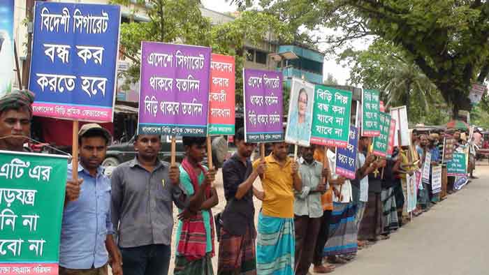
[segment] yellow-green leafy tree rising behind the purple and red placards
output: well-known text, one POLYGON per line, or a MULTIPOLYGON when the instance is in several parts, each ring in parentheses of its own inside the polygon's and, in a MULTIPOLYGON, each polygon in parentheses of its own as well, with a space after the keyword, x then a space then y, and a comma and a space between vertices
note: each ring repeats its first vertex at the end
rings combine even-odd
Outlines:
MULTIPOLYGON (((113 2, 131 5, 130 0, 113 2)), ((258 45, 269 36, 275 37, 276 43, 288 43, 293 37, 284 22, 258 10, 247 10, 231 22, 212 25, 200 13, 198 0, 137 0, 137 3, 137 8, 147 13, 149 22, 130 22, 121 26, 121 52, 133 61, 129 70, 122 73, 126 84, 139 80, 141 41, 201 45, 212 47, 213 53, 235 57, 236 102, 239 104, 242 102, 245 43, 258 45)))

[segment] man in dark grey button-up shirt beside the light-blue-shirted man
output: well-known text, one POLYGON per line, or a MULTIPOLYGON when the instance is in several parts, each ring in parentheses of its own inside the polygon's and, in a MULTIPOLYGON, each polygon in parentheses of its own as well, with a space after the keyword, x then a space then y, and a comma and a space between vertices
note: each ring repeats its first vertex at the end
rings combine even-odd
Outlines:
POLYGON ((168 274, 173 202, 187 206, 180 170, 158 159, 159 135, 138 135, 138 153, 112 172, 112 223, 124 274, 168 274))

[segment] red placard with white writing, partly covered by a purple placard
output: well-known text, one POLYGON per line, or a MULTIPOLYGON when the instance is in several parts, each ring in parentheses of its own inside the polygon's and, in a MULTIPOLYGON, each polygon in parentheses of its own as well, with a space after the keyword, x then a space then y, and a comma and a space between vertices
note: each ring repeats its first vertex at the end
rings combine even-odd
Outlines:
POLYGON ((234 135, 235 61, 234 57, 212 54, 210 62, 209 135, 234 135))

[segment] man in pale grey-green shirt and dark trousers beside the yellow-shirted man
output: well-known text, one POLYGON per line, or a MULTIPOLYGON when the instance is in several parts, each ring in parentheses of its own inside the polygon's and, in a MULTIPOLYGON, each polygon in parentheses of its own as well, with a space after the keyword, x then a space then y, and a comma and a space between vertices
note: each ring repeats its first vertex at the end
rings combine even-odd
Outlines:
POLYGON ((329 176, 329 170, 323 169, 323 164, 319 161, 314 161, 314 149, 312 144, 310 147, 302 147, 302 157, 299 160, 302 190, 295 191, 294 202, 296 275, 309 272, 323 216, 321 194, 326 192, 329 176))

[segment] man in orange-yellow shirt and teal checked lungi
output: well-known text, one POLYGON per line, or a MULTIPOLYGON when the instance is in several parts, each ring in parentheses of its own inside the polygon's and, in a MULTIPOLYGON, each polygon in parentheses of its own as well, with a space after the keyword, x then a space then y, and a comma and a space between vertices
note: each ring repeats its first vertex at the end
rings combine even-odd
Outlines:
MULTIPOLYGON (((294 212, 293 189, 300 191, 302 181, 298 164, 287 153, 289 144, 275 142, 272 154, 265 157, 266 169, 260 175, 265 196, 258 216, 256 273, 293 275, 294 212)), ((253 163, 254 168, 260 160, 253 163)))

